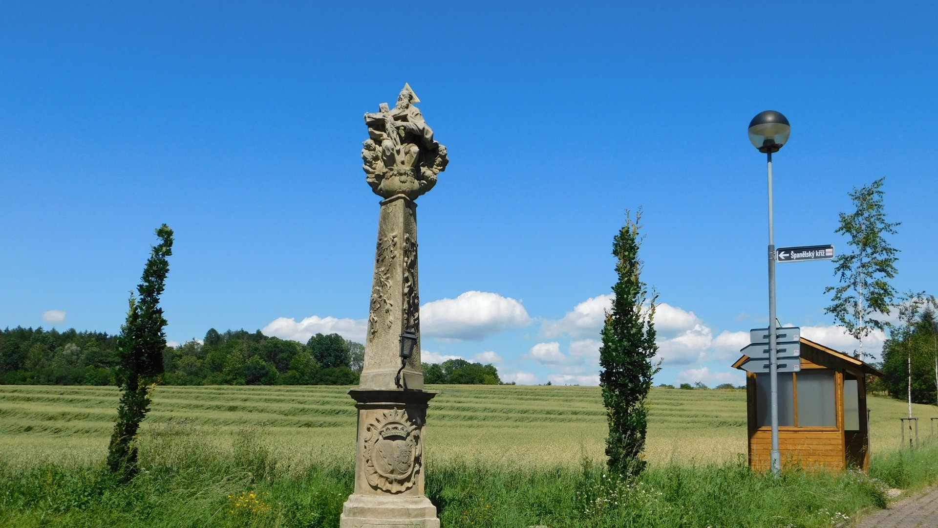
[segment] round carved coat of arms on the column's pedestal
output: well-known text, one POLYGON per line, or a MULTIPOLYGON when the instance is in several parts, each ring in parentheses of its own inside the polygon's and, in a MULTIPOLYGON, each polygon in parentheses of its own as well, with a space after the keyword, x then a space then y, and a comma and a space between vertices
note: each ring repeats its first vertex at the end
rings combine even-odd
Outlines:
POLYGON ((372 488, 401 493, 414 487, 420 473, 420 423, 392 409, 365 427, 365 476, 372 488))

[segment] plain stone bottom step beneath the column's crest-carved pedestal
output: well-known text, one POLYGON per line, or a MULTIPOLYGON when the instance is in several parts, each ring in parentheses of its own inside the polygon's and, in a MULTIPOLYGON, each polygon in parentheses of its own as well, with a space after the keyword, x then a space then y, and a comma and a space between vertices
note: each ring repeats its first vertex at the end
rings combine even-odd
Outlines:
POLYGON ((436 506, 427 497, 349 496, 340 528, 440 528, 436 506))

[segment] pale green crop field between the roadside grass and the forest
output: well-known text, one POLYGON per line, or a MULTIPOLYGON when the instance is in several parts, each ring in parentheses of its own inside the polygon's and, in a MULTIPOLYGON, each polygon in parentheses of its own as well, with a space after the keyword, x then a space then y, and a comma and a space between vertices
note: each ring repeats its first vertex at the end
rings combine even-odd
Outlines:
MULTIPOLYGON (((603 458, 606 422, 598 387, 441 385, 428 413, 427 457, 500 466, 579 467, 603 458)), ((144 422, 147 439, 185 431, 226 448, 256 430, 292 464, 351 461, 355 407, 345 387, 160 386, 144 422)), ((117 391, 110 387, 0 385, 0 457, 10 463, 102 458, 117 391)), ((652 464, 732 461, 746 453, 744 391, 654 388, 646 458, 652 464)), ((870 397, 872 452, 900 444, 906 404, 870 397)), ((915 405, 919 436, 934 407, 915 405)))

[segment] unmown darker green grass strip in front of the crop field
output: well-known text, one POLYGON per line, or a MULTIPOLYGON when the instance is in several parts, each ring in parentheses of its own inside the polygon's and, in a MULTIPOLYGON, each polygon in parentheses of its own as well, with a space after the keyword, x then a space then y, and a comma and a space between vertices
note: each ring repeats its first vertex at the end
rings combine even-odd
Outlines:
MULTIPOLYGON (((272 453, 270 434, 245 427, 219 449, 204 427, 162 424, 142 445, 142 472, 128 486, 99 463, 0 461, 0 526, 338 525, 353 489, 351 460, 290 464, 272 453)), ((575 469, 430 461, 427 494, 447 527, 821 527, 885 505, 887 487, 938 482, 936 459, 938 445, 929 443, 874 458, 870 475, 787 470, 777 479, 740 458, 653 465, 631 482, 589 458, 575 469)))

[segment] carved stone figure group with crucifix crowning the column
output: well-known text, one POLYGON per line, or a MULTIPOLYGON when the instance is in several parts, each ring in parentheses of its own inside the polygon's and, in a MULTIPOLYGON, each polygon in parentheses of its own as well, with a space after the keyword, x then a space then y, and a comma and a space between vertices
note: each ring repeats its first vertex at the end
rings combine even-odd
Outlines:
POLYGON ((369 138, 361 150, 366 181, 379 196, 403 194, 414 200, 436 184, 446 170, 446 147, 433 139, 423 120, 414 90, 405 84, 394 108, 382 102, 378 112, 365 114, 369 138))

